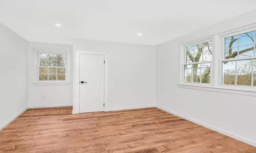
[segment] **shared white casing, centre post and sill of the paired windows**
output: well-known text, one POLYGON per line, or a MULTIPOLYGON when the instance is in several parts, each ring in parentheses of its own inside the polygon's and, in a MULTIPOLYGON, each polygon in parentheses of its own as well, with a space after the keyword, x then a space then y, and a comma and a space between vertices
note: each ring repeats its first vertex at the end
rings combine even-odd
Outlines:
MULTIPOLYGON (((191 42, 182 44, 181 45, 181 69, 180 69, 182 77, 180 77, 181 80, 180 80, 180 83, 178 84, 178 87, 256 97, 256 86, 224 85, 224 84, 222 84, 222 62, 228 61, 228 59, 223 58, 224 57, 223 54, 225 54, 225 40, 224 39, 226 37, 239 35, 239 34, 251 32, 251 31, 256 31, 256 23, 209 36, 209 37, 212 37, 212 42, 213 42, 213 46, 212 46, 213 54, 212 54, 212 63, 211 63, 211 79, 213 79, 213 81, 211 80, 211 83, 213 83, 212 86, 205 85, 204 83, 193 84, 193 83, 189 83, 189 82, 183 82, 183 78, 184 78, 183 63, 185 62, 185 58, 186 58, 184 45, 191 44, 191 42)), ((199 42, 200 40, 205 41, 209 37, 198 39, 193 42, 196 43, 196 42, 199 42)), ((254 41, 256 41, 255 38, 254 38, 254 41)), ((232 58, 230 61, 246 60, 246 59, 252 59, 252 58, 256 58, 256 56, 232 58)))

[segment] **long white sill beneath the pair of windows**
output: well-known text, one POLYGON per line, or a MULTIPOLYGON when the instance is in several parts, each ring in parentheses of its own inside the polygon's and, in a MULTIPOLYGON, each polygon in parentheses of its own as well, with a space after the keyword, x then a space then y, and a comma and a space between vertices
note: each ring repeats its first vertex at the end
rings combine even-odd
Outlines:
POLYGON ((195 85, 184 85, 184 84, 178 84, 178 87, 186 88, 186 89, 196 89, 196 90, 256 97, 256 91, 252 91, 252 90, 239 90, 239 89, 230 89, 230 88, 224 88, 224 87, 195 86, 195 85))

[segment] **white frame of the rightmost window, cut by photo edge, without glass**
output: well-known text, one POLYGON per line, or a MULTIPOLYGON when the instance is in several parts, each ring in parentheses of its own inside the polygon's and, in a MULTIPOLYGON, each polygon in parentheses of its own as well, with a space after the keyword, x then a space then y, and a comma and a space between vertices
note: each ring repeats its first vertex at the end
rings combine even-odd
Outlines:
MULTIPOLYGON (((224 59, 225 55, 225 38, 235 36, 235 35, 240 35, 243 33, 247 32, 252 32, 256 31, 256 27, 244 27, 244 28, 239 28, 236 30, 232 30, 223 34, 219 35, 219 52, 221 52, 221 56, 219 56, 219 68, 218 68, 218 87, 221 88, 229 88, 229 89, 236 89, 236 90, 246 90, 246 91, 256 91, 256 86, 244 86, 244 85, 227 85, 227 84, 222 84, 222 62, 225 61, 239 61, 239 60, 250 60, 256 58, 256 56, 251 56, 251 57, 238 57, 238 58, 229 58, 229 59, 224 59)), ((255 43, 255 38, 254 38, 254 43, 255 43)), ((254 52, 255 52, 255 46, 254 46, 254 52)), ((253 80, 253 77, 252 77, 253 80)))

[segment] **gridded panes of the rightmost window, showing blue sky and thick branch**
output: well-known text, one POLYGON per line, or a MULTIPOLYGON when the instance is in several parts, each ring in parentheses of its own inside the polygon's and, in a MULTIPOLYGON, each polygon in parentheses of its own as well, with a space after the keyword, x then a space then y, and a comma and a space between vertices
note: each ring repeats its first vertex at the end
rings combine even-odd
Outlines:
POLYGON ((223 37, 222 85, 256 86, 255 33, 223 37))

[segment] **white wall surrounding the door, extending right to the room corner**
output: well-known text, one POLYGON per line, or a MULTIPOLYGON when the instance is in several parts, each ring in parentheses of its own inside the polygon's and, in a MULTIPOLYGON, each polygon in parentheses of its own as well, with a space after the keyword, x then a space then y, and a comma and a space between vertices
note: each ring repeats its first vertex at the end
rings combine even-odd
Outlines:
POLYGON ((155 46, 75 39, 73 50, 107 54, 106 110, 155 105, 155 46))

